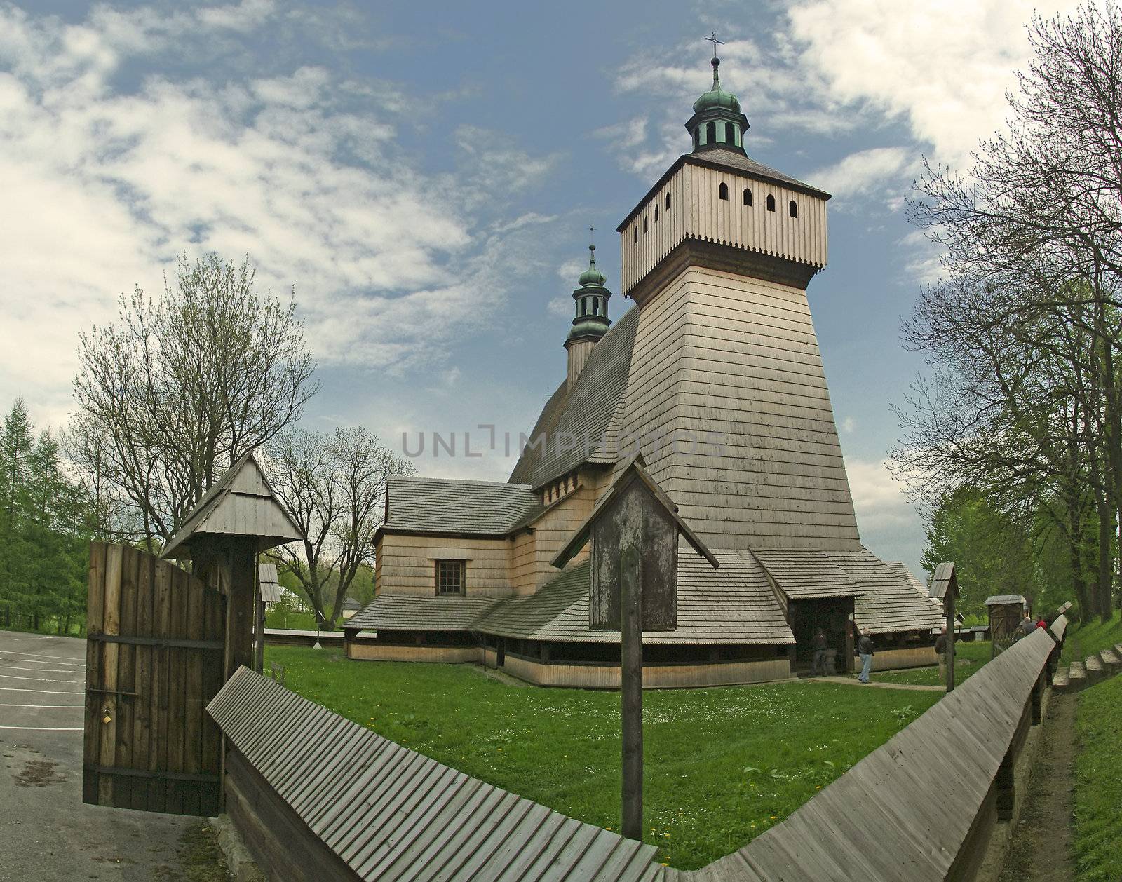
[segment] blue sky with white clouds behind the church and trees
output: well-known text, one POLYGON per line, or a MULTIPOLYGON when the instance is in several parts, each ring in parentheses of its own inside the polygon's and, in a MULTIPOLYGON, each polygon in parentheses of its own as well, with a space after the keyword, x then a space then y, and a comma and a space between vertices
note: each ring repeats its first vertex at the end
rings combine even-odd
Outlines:
POLYGON ((564 377, 587 228, 617 291, 614 230, 689 150, 716 31, 748 155, 834 195, 808 293, 858 526, 919 573, 885 456, 923 367, 901 319, 939 254, 904 199, 925 157, 968 172, 1033 9, 1074 6, 0 1, 0 407, 65 425, 79 334, 122 292, 248 254, 295 291, 322 383, 305 428, 423 432, 420 474, 505 480, 564 377), (462 456, 479 425, 511 454, 462 456))

